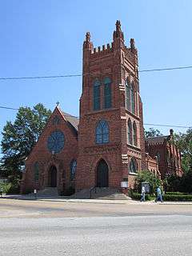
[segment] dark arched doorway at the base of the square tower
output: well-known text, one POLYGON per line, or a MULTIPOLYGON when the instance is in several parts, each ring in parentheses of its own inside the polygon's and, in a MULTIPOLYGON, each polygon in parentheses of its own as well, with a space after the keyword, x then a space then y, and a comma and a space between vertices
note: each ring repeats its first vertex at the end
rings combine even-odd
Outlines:
POLYGON ((105 160, 98 162, 97 168, 97 186, 107 187, 109 186, 109 170, 105 160))

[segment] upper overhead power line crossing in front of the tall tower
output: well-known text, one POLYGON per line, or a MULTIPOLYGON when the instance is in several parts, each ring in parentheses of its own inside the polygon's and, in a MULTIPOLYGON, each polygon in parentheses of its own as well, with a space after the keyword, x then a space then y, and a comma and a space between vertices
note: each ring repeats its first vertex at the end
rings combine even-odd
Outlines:
MULTIPOLYGON (((152 70, 138 70, 139 73, 144 72, 154 72, 154 71, 168 71, 168 70, 186 70, 191 69, 192 66, 175 66, 175 67, 166 67, 152 70)), ((114 73, 110 73, 114 74, 114 73)), ((86 75, 86 74, 85 74, 86 75)), ((89 74, 91 76, 97 76, 101 74, 89 74)), ((74 78, 74 77, 82 77, 83 74, 61 74, 61 75, 47 75, 47 76, 34 76, 34 77, 5 77, 0 78, 0 80, 26 80, 26 79, 47 79, 47 78, 74 78)))

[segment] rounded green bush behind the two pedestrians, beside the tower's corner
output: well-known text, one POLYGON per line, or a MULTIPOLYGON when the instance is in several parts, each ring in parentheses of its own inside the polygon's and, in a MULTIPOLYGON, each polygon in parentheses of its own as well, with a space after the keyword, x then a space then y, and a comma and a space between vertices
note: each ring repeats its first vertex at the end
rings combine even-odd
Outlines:
POLYGON ((136 189, 141 192, 142 182, 149 182, 150 184, 150 194, 155 194, 158 186, 161 186, 161 180, 158 179, 150 170, 142 170, 138 173, 136 178, 136 189))

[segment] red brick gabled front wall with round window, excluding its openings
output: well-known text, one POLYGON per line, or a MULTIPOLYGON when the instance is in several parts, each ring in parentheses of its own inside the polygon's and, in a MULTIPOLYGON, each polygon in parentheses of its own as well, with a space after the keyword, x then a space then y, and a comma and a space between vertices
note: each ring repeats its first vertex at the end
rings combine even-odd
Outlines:
POLYGON ((26 190, 42 190, 48 184, 48 174, 51 166, 57 168, 57 184, 58 191, 66 190, 71 185, 70 182, 70 162, 78 157, 78 138, 74 130, 66 122, 58 107, 51 114, 36 146, 26 160, 26 173, 22 178, 22 193, 26 190), (53 124, 55 116, 61 118, 58 125, 53 124), (51 154, 47 149, 47 139, 54 130, 62 130, 65 135, 65 145, 61 153, 51 154), (39 178, 38 182, 34 182, 34 163, 38 162, 39 178))

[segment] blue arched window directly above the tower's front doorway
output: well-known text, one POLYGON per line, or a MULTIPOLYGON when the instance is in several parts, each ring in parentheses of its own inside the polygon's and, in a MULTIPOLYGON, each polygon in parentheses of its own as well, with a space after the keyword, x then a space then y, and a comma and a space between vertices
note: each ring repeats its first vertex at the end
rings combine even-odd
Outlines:
POLYGON ((96 143, 103 144, 109 142, 109 126, 105 120, 98 122, 96 127, 96 143))

